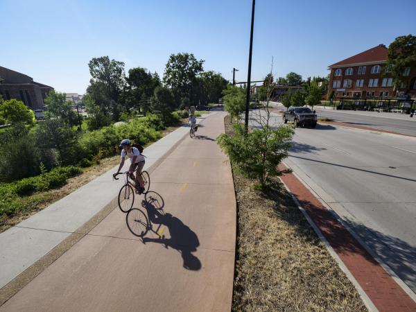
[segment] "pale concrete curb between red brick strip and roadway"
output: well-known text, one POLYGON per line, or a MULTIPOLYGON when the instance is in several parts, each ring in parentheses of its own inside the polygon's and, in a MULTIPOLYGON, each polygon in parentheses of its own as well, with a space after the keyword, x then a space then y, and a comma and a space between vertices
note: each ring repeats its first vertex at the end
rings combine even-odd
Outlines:
MULTIPOLYGON (((285 162, 283 162, 288 168, 291 168, 291 166, 288 166, 285 162)), ((351 229, 351 227, 349 227, 343 220, 343 218, 341 218, 335 210, 332 209, 332 207, 325 202, 325 200, 322 199, 322 195, 318 194, 316 191, 314 191, 309 184, 304 181, 302 179, 302 177, 300 177, 299 175, 297 175, 297 173, 295 173, 295 171, 293 171, 292 173, 293 175, 295 175, 295 177, 297 177, 298 180, 300 180, 300 182, 302 184, 304 184, 304 187, 306 187, 306 189, 309 189, 309 191, 311 191, 315 197, 321 202, 322 205, 324 205, 324 207, 326 207, 331 214, 338 220, 338 222, 340 222, 349 232, 349 234, 352 234, 352 236, 354 236, 354 238, 358 241, 358 243, 360 243, 363 248, 379 263, 379 265, 386 271, 388 272, 388 274, 396 281, 397 284, 399 284, 399 286, 401 287, 401 289, 404 290, 404 292, 406 294, 408 294, 408 296, 416 302, 416 293, 414 291, 412 291, 412 289, 410 289, 410 287, 401 280, 401 278, 395 273, 395 271, 392 270, 392 268, 390 268, 390 266, 388 266, 388 264, 386 264, 379 256, 377 256, 377 254, 375 252, 373 252, 373 250, 367 246, 367 244, 361 239, 360 236, 358 236, 358 234, 356 234, 354 232, 354 230, 351 229)), ((312 179, 311 179, 312 180, 312 179)), ((313 181, 313 180, 312 180, 313 181)), ((313 182, 315 183, 315 182, 313 182)), ((328 193, 326 193, 324 190, 320 190, 322 192, 324 192, 324 195, 331 198, 331 196, 329 196, 328 193)), ((347 211, 348 212, 348 211, 347 211)), ((351 274, 351 273, 350 273, 351 274)), ((354 279, 355 280, 355 279, 354 279)), ((360 286, 361 287, 361 286, 360 286)))

